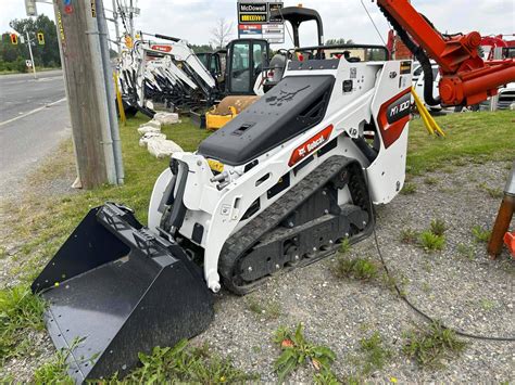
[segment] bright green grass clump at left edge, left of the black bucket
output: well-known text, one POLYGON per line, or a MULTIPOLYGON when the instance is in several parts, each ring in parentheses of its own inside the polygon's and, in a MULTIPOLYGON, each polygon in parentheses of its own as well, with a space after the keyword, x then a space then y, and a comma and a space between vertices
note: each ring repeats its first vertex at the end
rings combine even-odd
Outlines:
POLYGON ((28 330, 43 330, 45 303, 26 285, 0 291, 0 363, 27 350, 28 330))

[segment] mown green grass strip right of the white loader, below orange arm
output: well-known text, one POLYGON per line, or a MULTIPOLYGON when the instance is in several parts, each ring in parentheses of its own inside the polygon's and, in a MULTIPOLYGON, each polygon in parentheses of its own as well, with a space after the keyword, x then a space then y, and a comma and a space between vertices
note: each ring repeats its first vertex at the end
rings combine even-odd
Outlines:
POLYGON ((445 130, 444 139, 428 137, 423 121, 413 120, 407 145, 410 174, 423 175, 450 163, 460 165, 459 159, 513 161, 515 130, 512 115, 513 112, 503 111, 437 116, 437 123, 445 130))

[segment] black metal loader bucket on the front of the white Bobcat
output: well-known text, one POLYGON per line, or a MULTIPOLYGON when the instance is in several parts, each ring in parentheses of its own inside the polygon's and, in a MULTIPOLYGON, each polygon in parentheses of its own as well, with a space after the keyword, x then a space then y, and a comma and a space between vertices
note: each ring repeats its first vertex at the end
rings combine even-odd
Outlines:
POLYGON ((123 377, 138 352, 191 338, 214 316, 183 248, 112 203, 89 211, 32 288, 48 301, 48 331, 76 382, 123 377))

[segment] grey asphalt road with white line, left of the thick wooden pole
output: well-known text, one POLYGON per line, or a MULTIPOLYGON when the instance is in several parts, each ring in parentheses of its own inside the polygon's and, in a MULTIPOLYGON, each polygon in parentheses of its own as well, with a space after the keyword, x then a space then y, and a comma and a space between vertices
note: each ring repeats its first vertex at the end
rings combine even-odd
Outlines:
POLYGON ((70 136, 61 70, 0 76, 0 197, 70 136))

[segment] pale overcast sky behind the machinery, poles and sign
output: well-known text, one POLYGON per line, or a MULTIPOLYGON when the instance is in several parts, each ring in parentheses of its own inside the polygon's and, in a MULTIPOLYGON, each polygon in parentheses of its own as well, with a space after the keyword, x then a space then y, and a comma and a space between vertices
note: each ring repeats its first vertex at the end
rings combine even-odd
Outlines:
MULTIPOLYGON (((49 0, 46 0, 49 1, 49 0)), ((79 1, 79 0, 72 0, 79 1)), ((83 0, 84 1, 84 0, 83 0)), ((234 23, 237 38, 236 0, 135 0, 141 14, 135 20, 137 30, 179 37, 190 43, 202 44, 211 40, 211 30, 221 17, 234 23)), ((324 22, 325 39, 344 38, 356 43, 381 43, 363 9, 361 0, 284 0, 285 7, 302 3, 316 9, 324 22)), ((382 39, 386 39, 388 24, 376 3, 363 0, 376 23, 382 39)), ((418 12, 424 13, 442 33, 467 33, 478 30, 482 36, 515 34, 515 0, 412 0, 418 12)), ((104 7, 112 9, 112 0, 104 0, 104 7)), ((53 5, 37 3, 38 13, 53 17, 53 5)), ((11 30, 9 22, 25 16, 23 0, 0 0, 0 31, 11 30)), ((109 13, 108 13, 109 16, 109 13)), ((112 24, 112 23, 111 23, 112 24)), ((300 28, 301 46, 316 43, 314 22, 300 28)), ((114 37, 114 26, 110 26, 114 37)), ((291 47, 286 34, 284 47, 291 47)), ((508 39, 515 39, 511 37, 508 39)), ((280 46, 274 46, 280 48, 280 46)))

